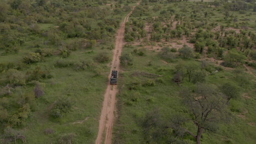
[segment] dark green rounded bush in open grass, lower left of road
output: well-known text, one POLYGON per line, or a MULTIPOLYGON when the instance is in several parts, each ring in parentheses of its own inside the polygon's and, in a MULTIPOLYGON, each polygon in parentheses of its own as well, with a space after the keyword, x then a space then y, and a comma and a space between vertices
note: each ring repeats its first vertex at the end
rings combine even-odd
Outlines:
POLYGON ((51 116, 54 118, 62 117, 63 114, 71 110, 72 105, 72 101, 66 97, 57 100, 53 109, 51 110, 51 116))

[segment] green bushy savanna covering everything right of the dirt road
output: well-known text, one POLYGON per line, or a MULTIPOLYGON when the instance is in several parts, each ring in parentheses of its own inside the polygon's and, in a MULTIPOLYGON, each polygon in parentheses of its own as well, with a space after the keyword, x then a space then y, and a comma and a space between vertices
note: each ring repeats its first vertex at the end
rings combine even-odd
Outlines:
POLYGON ((255 7, 142 1, 125 27, 114 143, 255 143, 255 7))

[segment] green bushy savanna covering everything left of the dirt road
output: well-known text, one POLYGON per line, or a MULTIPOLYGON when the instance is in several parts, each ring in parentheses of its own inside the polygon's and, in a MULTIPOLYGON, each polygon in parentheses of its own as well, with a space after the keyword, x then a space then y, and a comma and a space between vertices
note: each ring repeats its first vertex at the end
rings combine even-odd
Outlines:
POLYGON ((94 143, 135 1, 0 1, 0 143, 94 143))

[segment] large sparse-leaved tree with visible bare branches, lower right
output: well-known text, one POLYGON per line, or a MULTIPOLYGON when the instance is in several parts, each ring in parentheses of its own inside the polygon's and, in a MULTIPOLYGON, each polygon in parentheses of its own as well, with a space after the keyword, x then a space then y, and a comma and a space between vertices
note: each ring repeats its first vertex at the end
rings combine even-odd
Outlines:
MULTIPOLYGON (((201 136, 204 131, 215 131, 222 118, 225 118, 226 105, 223 94, 213 85, 199 83, 196 86, 195 93, 190 89, 184 88, 181 91, 185 106, 189 109, 190 118, 196 128, 196 134, 182 127, 179 122, 178 128, 183 128, 185 132, 193 136, 197 144, 201 143, 201 136)), ((184 122, 187 119, 184 119, 184 122)))

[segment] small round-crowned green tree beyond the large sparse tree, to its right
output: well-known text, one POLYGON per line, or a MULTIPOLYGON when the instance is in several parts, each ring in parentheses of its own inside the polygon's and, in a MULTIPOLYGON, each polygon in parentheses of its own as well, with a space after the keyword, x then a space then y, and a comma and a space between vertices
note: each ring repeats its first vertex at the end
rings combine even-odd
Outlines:
POLYGON ((235 99, 240 96, 239 88, 231 82, 226 82, 220 86, 220 90, 226 96, 226 104, 229 104, 230 99, 235 99))

